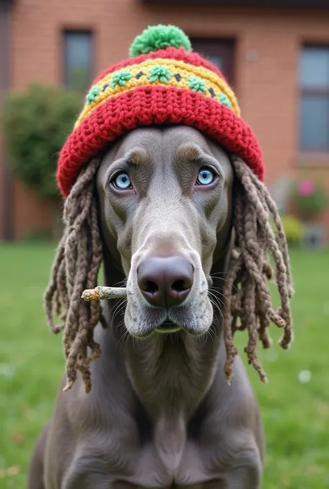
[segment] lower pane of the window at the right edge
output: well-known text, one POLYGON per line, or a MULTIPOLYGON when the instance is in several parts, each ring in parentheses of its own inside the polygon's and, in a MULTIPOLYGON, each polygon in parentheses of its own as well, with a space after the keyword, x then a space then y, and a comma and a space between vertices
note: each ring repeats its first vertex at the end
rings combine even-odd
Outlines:
POLYGON ((305 150, 329 150, 329 96, 301 96, 300 144, 305 150))

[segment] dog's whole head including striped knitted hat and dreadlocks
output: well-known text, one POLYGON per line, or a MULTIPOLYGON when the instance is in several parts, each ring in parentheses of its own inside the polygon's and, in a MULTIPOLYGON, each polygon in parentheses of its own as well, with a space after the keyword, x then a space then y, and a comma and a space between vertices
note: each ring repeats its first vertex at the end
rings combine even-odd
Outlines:
POLYGON ((207 332, 213 315, 210 273, 223 272, 228 259, 218 291, 228 379, 237 327, 248 330, 248 361, 262 379, 258 336, 267 348, 272 322, 285 330, 282 348, 291 341, 287 242, 262 183, 258 140, 221 71, 191 51, 176 26, 146 28, 130 46, 130 58, 94 80, 60 151, 56 177, 66 198, 65 231, 44 304, 51 329, 65 329, 67 388, 78 369, 90 389, 90 361, 100 354, 93 331, 101 304, 85 302, 81 294, 96 286, 102 261, 108 286, 117 284, 120 273, 127 280, 128 332, 149 336, 178 328, 207 332), (222 141, 230 157, 219 147, 222 141), (232 226, 235 249, 228 254, 232 226), (277 310, 266 283, 269 255, 276 264, 277 310), (54 325, 56 315, 64 325, 54 325))

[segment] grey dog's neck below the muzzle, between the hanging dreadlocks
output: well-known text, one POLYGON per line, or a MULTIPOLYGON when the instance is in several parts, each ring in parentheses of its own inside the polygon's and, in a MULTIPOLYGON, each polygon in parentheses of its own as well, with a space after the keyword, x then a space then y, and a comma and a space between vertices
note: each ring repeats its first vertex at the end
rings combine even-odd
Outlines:
MULTIPOLYGON (((223 257, 217 263, 216 272, 223 273, 225 268, 226 257, 223 257)), ((122 277, 117 275, 115 282, 120 280, 122 277)), ((108 286, 114 283, 113 266, 106 260, 104 281, 108 286)), ((215 294, 220 304, 221 289, 215 294)), ((170 415, 189 419, 212 383, 222 335, 221 311, 214 306, 214 321, 205 336, 191 336, 182 330, 139 339, 126 334, 124 305, 107 301, 106 309, 117 351, 124 357, 128 377, 151 418, 170 415)))

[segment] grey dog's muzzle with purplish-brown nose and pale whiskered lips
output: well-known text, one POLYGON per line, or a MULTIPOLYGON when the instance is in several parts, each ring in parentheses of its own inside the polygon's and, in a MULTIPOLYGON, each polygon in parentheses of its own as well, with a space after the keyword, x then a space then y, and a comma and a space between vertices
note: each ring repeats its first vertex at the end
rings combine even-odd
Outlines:
POLYGON ((151 263, 147 263, 148 259, 141 257, 140 252, 133 255, 127 280, 124 320, 132 336, 147 338, 154 333, 177 332, 199 336, 210 328, 213 309, 201 258, 197 252, 185 252, 182 256, 151 255, 151 263), (141 266, 143 263, 144 268, 141 266), (177 277, 182 278, 183 286, 177 286, 177 277), (145 286, 147 282, 154 282, 153 294, 145 286))

